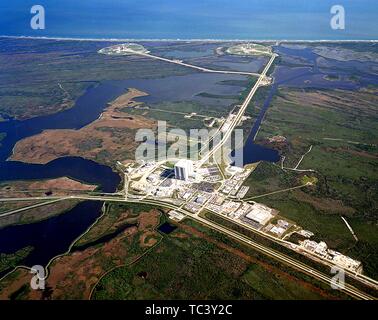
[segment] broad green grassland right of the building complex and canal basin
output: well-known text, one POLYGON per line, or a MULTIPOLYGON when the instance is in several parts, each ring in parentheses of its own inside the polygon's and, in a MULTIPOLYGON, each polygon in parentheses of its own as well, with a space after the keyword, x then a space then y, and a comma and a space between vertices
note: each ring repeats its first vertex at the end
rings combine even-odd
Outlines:
POLYGON ((309 148, 299 169, 281 170, 280 164, 262 163, 249 177, 247 196, 303 183, 315 176, 315 186, 265 196, 257 201, 315 232, 334 249, 363 262, 366 274, 378 278, 377 230, 377 97, 362 91, 297 91, 280 89, 268 109, 257 141, 285 136, 284 166, 292 168, 309 148), (340 139, 340 140, 328 140, 340 139), (356 243, 340 216, 345 216, 356 243))

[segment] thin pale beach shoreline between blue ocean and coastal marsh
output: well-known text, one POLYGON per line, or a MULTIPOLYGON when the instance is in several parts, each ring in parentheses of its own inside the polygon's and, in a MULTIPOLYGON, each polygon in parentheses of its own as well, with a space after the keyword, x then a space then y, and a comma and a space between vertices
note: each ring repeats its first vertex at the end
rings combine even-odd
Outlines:
POLYGON ((108 42, 119 42, 119 41, 134 41, 134 42, 149 42, 149 41, 169 41, 169 42, 371 42, 376 43, 378 39, 206 39, 206 38, 191 38, 191 39, 171 39, 171 38, 75 38, 75 37, 49 37, 49 36, 9 36, 0 35, 0 38, 11 38, 11 39, 32 39, 32 40, 58 40, 58 41, 108 41, 108 42))

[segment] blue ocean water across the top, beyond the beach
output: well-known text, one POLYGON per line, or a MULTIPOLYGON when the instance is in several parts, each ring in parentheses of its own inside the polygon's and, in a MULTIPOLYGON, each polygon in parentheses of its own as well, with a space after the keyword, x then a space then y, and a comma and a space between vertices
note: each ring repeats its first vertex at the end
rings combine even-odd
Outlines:
POLYGON ((376 0, 1 1, 0 35, 133 39, 377 39, 376 0), (30 27, 43 5, 46 29, 30 27), (345 30, 330 27, 343 5, 345 30))

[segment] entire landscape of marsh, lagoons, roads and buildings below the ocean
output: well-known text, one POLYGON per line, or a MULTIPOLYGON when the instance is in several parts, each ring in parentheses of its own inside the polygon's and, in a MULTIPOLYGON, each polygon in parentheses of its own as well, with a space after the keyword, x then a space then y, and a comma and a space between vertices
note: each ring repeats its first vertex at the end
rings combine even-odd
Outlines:
POLYGON ((378 298, 377 42, 234 39, 0 36, 1 300, 378 298))

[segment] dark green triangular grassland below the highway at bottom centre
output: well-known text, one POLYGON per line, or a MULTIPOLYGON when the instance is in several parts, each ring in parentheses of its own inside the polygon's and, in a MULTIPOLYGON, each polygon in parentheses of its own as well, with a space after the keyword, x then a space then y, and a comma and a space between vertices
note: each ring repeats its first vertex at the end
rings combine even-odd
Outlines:
MULTIPOLYGON (((215 241, 178 228, 137 263, 115 269, 96 287, 94 299, 322 299, 319 289, 293 282, 261 261, 251 262, 233 251, 243 249, 252 259, 256 252, 194 221, 182 223, 215 241)), ((239 251, 238 251, 239 252, 239 251)), ((265 259, 265 258, 264 258, 265 259)), ((270 261, 271 262, 271 261, 270 261)), ((275 262, 273 262, 274 264, 275 262)), ((285 267, 280 266, 280 270, 285 267)), ((307 279, 308 280, 308 279, 307 279)), ((320 290, 321 291, 321 290, 320 290)), ((327 294, 325 295, 327 297, 327 294)), ((328 297, 335 297, 330 295, 328 297)), ((344 297, 345 298, 345 297, 344 297)))

